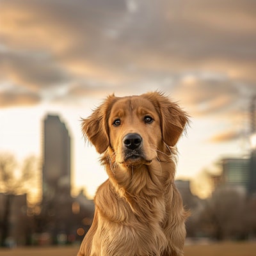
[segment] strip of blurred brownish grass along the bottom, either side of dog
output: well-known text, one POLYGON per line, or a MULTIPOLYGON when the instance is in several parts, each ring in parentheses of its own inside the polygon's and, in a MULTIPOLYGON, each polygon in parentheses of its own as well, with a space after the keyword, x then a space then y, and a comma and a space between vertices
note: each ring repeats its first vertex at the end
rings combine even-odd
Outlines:
MULTIPOLYGON (((76 256, 78 247, 27 247, 0 249, 0 256, 76 256)), ((109 255, 111 256, 111 255, 109 255)), ((188 245, 184 256, 256 256, 256 243, 188 245)))

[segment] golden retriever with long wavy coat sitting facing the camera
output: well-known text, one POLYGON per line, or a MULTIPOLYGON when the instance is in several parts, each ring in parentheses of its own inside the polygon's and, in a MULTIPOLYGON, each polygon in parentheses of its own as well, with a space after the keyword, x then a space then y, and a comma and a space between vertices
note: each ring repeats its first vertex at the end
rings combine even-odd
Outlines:
POLYGON ((82 120, 109 179, 77 256, 183 255, 189 214, 174 184, 175 145, 188 121, 161 92, 109 95, 82 120))

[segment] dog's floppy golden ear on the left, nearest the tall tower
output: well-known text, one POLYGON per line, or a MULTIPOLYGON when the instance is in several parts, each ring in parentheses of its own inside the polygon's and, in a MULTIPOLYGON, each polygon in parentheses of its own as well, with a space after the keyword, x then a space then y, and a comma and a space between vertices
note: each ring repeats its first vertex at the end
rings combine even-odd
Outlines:
POLYGON ((84 138, 94 145, 99 154, 106 151, 109 146, 108 118, 115 99, 115 95, 110 95, 91 116, 82 119, 84 138))

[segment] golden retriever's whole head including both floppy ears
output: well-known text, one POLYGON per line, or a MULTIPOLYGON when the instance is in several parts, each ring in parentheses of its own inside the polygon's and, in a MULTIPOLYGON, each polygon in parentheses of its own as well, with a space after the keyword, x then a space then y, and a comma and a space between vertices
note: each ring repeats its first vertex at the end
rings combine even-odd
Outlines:
POLYGON ((116 163, 150 164, 166 146, 175 146, 187 122, 186 113, 162 93, 111 95, 83 120, 83 134, 100 154, 114 153, 116 163))

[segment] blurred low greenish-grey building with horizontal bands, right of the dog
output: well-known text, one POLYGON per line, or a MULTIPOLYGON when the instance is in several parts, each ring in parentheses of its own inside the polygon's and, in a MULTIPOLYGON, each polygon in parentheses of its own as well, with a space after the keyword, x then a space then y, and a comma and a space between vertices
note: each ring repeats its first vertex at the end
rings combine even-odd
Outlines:
POLYGON ((222 177, 224 184, 239 186, 245 191, 249 190, 250 182, 250 159, 226 158, 222 159, 222 177))

